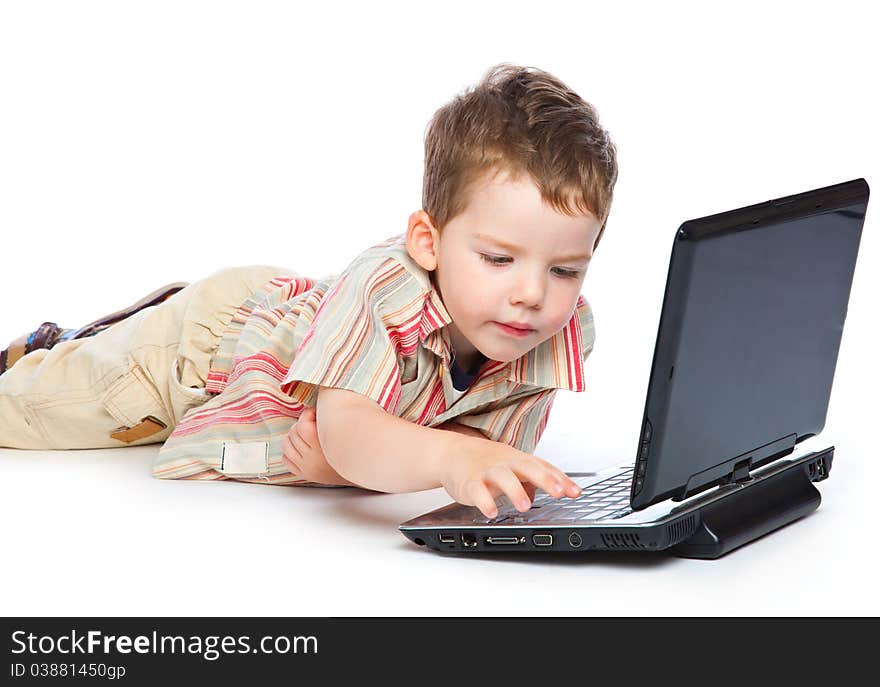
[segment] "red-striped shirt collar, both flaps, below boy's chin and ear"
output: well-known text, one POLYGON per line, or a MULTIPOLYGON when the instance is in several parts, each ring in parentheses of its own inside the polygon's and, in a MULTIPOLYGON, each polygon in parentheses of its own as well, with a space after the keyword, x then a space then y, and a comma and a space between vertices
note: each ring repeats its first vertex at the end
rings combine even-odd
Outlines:
MULTIPOLYGON (((422 283, 425 287, 425 301, 419 325, 419 339, 439 357, 448 358, 450 340, 446 327, 452 322, 452 317, 430 278, 422 283)), ((503 374, 502 378, 516 384, 584 391, 584 354, 592 346, 592 309, 586 299, 578 295, 571 319, 556 334, 516 360, 508 363, 490 360, 488 364, 493 368, 497 367, 493 371, 495 374, 503 374)))

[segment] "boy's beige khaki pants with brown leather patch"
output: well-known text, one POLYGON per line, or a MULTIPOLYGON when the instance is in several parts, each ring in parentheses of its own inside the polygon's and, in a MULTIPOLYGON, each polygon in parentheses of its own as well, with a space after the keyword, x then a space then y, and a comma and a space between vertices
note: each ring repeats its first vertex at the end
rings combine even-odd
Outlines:
POLYGON ((85 339, 39 349, 0 374, 0 447, 86 449, 161 443, 210 398, 211 356, 238 307, 290 270, 233 267, 194 282, 85 339), (125 443, 110 435, 147 416, 165 429, 125 443))

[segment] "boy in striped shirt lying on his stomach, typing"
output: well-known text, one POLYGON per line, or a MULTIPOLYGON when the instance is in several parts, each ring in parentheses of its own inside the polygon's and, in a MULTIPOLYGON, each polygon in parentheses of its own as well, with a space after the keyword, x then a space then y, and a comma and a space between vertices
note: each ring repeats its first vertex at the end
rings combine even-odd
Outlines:
POLYGON ((498 65, 435 113, 405 234, 322 279, 222 270, 16 357, 0 446, 164 441, 159 478, 443 486, 490 518, 502 493, 577 496, 531 452, 556 391, 584 390, 580 289, 616 179, 592 106, 498 65))

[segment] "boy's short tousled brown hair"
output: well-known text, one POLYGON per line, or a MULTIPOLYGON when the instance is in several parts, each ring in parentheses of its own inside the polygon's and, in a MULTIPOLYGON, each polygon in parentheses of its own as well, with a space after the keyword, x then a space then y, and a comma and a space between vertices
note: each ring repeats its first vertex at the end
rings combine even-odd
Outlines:
POLYGON ((595 108, 555 76, 504 62, 428 123, 422 209, 442 231, 467 207, 474 182, 502 171, 528 174, 557 212, 592 212, 599 245, 617 181, 611 137, 595 108))

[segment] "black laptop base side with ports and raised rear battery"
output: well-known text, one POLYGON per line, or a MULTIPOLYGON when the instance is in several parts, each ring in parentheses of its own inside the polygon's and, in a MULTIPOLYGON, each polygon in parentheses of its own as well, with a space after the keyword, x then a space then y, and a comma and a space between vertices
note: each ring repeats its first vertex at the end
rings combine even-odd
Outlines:
POLYGON ((802 450, 804 455, 777 461, 663 515, 646 511, 650 519, 644 521, 634 513, 585 523, 551 516, 528 525, 492 524, 475 517, 476 509, 451 503, 403 523, 400 531, 419 546, 459 555, 665 551, 682 558, 719 558, 818 508, 821 498, 812 483, 828 478, 834 446, 802 450))

